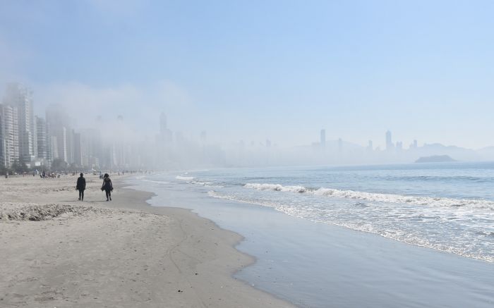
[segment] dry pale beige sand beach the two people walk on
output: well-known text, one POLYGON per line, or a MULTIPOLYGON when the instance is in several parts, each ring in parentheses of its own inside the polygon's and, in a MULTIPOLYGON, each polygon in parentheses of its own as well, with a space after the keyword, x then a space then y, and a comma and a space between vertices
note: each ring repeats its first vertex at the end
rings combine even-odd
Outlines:
POLYGON ((291 307, 231 274, 236 233, 88 175, 0 179, 0 307, 291 307))

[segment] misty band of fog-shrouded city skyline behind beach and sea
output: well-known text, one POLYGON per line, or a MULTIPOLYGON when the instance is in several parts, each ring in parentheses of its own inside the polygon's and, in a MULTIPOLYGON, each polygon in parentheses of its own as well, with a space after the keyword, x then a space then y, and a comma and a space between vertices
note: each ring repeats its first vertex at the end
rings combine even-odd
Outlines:
MULTIPOLYGON (((327 133, 334 137, 339 132, 325 129, 307 135, 306 142, 299 145, 268 137, 221 141, 221 133, 210 136, 206 128, 194 130, 195 125, 191 125, 191 130, 175 130, 170 123, 176 121, 169 121, 167 113, 151 111, 145 104, 142 108, 126 105, 127 109, 136 110, 127 118, 118 113, 118 104, 98 102, 104 105, 100 108, 91 97, 85 99, 67 98, 67 103, 48 104, 40 113, 42 108, 37 106, 35 92, 27 85, 9 82, 0 108, 2 166, 11 168, 21 162, 28 168, 44 169, 50 168, 55 160, 54 168, 123 171, 397 164, 441 155, 450 161, 494 159, 494 147, 474 150, 438 142, 419 145, 418 140, 404 144, 394 141, 397 137, 390 130, 379 140, 368 140, 366 145, 341 137, 330 139, 327 133)), ((121 104, 124 101, 126 98, 122 97, 121 104)), ((193 121, 188 116, 182 118, 185 122, 193 121)))

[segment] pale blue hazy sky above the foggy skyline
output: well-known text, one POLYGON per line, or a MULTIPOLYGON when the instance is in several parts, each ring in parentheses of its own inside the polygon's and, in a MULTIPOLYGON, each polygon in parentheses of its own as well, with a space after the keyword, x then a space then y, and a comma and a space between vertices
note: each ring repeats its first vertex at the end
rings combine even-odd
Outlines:
POLYGON ((0 94, 80 128, 494 145, 494 1, 0 0, 0 94))

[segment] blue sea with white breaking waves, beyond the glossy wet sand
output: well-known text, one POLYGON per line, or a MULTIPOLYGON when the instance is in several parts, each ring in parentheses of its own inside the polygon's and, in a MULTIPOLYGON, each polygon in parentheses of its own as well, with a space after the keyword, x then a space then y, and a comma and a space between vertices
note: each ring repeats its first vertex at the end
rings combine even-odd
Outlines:
POLYGON ((494 163, 245 168, 179 180, 210 197, 494 261, 494 163))

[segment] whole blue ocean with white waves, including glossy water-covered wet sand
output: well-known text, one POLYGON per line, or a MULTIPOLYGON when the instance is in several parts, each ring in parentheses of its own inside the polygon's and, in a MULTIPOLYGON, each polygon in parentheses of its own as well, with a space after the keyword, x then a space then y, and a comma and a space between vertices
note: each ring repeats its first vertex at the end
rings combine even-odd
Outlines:
POLYGON ((152 205, 243 235, 239 249, 258 261, 236 276, 301 307, 494 304, 494 163, 228 168, 135 183, 157 193, 152 205))

